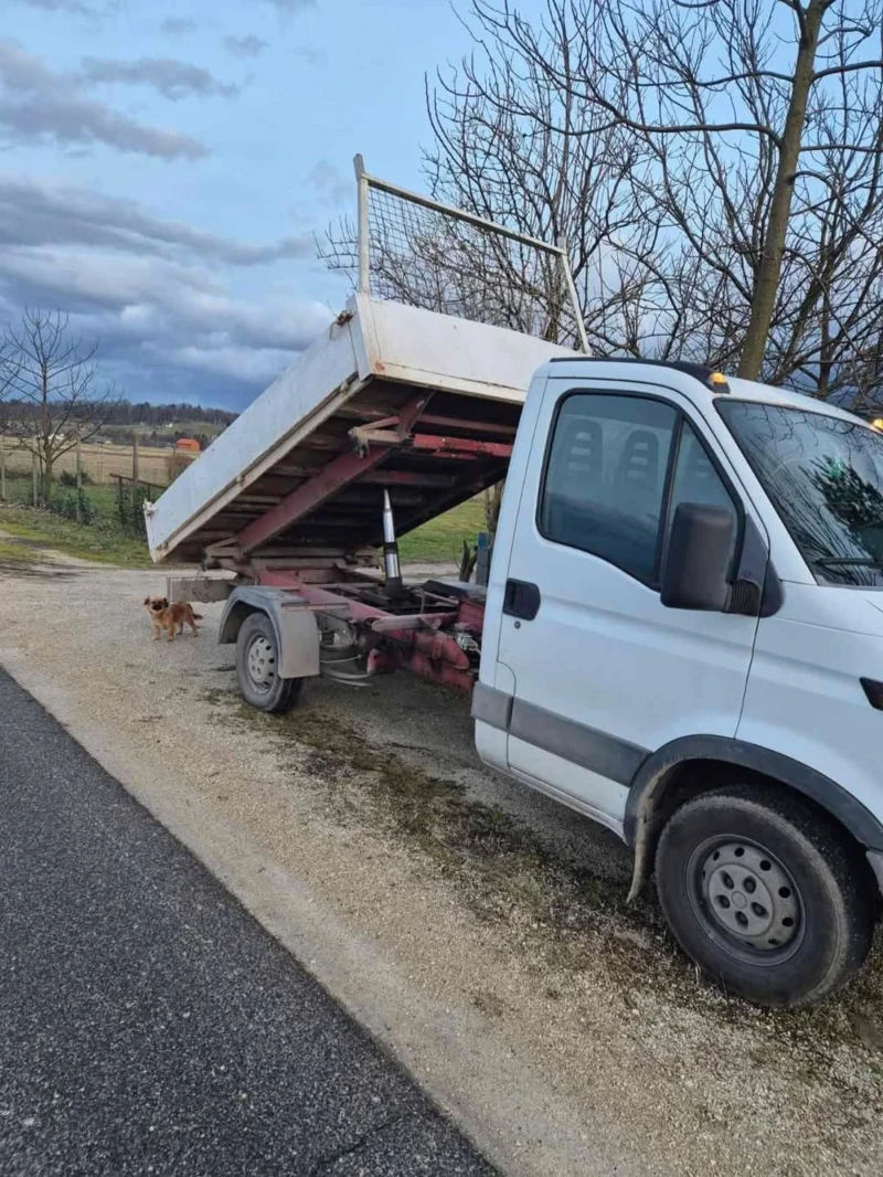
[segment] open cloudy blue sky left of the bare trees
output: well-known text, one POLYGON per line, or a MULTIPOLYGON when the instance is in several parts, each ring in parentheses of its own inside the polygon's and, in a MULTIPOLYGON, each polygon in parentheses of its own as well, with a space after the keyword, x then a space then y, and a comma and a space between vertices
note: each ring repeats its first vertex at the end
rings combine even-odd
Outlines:
POLYGON ((352 157, 419 186, 447 0, 0 0, 0 321, 69 312, 132 400, 241 408, 340 308, 352 157))

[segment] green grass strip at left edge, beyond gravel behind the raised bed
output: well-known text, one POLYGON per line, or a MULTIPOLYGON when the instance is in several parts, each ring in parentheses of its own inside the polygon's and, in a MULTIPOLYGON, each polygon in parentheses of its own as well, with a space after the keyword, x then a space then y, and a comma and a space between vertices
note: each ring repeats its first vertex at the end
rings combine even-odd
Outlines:
MULTIPOLYGON (((95 490, 105 491, 106 487, 95 490)), ((119 564, 131 568, 151 565, 147 545, 142 540, 126 536, 114 526, 112 519, 100 518, 92 526, 85 527, 49 511, 6 504, 0 506, 0 527, 19 539, 46 544, 82 560, 119 564)), ((14 548, 11 558, 24 558, 19 545, 7 546, 14 548)))

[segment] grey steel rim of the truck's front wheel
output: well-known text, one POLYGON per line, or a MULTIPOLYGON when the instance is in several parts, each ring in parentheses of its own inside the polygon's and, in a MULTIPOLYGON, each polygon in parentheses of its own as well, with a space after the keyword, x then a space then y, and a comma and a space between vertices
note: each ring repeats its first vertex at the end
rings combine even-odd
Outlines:
POLYGON ((782 862, 759 843, 721 837, 688 863, 690 902, 706 935, 751 964, 781 964, 803 939, 803 898, 782 862))

